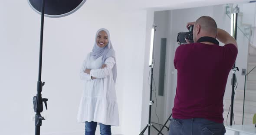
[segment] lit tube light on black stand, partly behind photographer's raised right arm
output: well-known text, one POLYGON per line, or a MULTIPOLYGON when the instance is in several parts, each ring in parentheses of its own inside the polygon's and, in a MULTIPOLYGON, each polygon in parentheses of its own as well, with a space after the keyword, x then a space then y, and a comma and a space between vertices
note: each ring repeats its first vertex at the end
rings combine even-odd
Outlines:
MULTIPOLYGON (((236 5, 233 13, 231 14, 231 35, 234 39, 236 39, 237 34, 237 15, 239 13, 239 7, 236 5)), ((235 80, 236 80, 236 71, 239 71, 238 67, 236 67, 236 63, 232 68, 232 92, 231 92, 231 110, 230 110, 230 125, 233 125, 233 107, 234 107, 234 96, 235 96, 235 80)))

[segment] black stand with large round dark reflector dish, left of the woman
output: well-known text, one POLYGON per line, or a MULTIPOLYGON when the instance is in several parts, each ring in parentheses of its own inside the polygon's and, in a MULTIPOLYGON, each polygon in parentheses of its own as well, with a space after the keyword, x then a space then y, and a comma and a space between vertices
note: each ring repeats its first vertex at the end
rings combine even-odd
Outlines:
POLYGON ((39 72, 37 81, 37 94, 33 97, 35 116, 35 135, 40 135, 42 120, 45 120, 43 112, 43 102, 47 109, 47 98, 42 98, 42 90, 45 82, 41 81, 42 76, 42 54, 43 54, 43 25, 44 16, 57 18, 68 16, 78 10, 86 0, 28 0, 31 8, 41 14, 40 48, 39 48, 39 72))

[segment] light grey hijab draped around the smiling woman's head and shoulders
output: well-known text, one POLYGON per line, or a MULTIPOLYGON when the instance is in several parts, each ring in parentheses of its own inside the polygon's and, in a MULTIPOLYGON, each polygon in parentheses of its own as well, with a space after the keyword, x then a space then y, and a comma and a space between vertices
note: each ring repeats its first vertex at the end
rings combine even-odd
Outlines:
POLYGON ((112 73, 113 73, 113 80, 114 82, 116 82, 116 75, 117 75, 117 67, 116 67, 116 58, 115 58, 115 50, 111 44, 111 41, 110 41, 110 34, 108 32, 107 29, 99 29, 97 32, 96 32, 96 36, 95 36, 95 43, 94 43, 94 46, 93 46, 93 49, 92 49, 92 52, 90 53, 90 55, 94 58, 94 59, 97 59, 99 57, 102 56, 102 64, 104 64, 105 60, 109 57, 112 57, 115 59, 115 65, 114 67, 112 68, 112 73), (106 45, 105 47, 101 48, 97 45, 97 42, 96 42, 96 39, 98 37, 98 33, 101 32, 101 31, 105 31, 108 35, 108 45, 106 45))

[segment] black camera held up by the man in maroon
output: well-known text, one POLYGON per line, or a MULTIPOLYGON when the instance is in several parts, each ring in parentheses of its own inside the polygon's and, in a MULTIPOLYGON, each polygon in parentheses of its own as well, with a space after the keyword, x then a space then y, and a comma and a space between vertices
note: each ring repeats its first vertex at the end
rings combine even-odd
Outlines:
POLYGON ((194 25, 189 26, 189 32, 179 32, 177 36, 177 42, 179 44, 187 44, 186 40, 187 39, 190 43, 194 43, 193 40, 193 29, 194 25))

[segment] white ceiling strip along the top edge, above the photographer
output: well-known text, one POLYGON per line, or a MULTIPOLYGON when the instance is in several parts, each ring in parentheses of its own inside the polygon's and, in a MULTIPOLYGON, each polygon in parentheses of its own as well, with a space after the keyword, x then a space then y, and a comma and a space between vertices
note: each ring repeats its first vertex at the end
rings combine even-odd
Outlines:
POLYGON ((133 10, 175 10, 226 3, 249 3, 251 0, 87 0, 99 7, 115 7, 133 10))

